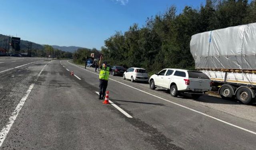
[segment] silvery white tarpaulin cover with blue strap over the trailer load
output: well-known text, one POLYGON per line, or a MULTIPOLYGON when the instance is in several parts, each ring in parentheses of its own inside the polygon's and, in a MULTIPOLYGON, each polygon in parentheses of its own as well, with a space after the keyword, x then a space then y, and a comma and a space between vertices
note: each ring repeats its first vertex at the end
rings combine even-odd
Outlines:
POLYGON ((256 70, 256 23, 195 34, 195 68, 256 70))

